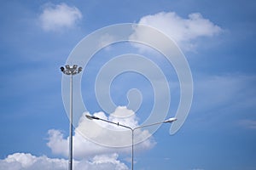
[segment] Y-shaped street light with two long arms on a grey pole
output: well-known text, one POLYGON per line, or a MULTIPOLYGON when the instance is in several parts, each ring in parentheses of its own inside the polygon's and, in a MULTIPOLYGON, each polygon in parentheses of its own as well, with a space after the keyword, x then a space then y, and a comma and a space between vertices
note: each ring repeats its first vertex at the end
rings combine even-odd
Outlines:
POLYGON ((162 124, 162 123, 166 123, 166 122, 174 122, 174 121, 177 121, 177 118, 176 117, 172 117, 172 118, 169 118, 167 119, 166 121, 163 121, 163 122, 154 122, 152 124, 148 124, 148 125, 143 125, 143 126, 139 126, 139 127, 128 127, 128 126, 125 126, 125 125, 122 125, 120 124, 119 122, 111 122, 111 121, 108 121, 108 120, 105 120, 105 119, 102 119, 100 117, 97 117, 97 116, 90 116, 90 115, 85 115, 88 119, 90 120, 100 120, 100 121, 103 121, 103 122, 109 122, 109 123, 112 123, 112 124, 115 124, 119 127, 125 127, 125 128, 128 128, 131 130, 131 170, 133 170, 133 157, 134 157, 134 131, 138 128, 143 128, 143 127, 151 127, 151 126, 154 126, 154 125, 157 125, 157 124, 162 124))

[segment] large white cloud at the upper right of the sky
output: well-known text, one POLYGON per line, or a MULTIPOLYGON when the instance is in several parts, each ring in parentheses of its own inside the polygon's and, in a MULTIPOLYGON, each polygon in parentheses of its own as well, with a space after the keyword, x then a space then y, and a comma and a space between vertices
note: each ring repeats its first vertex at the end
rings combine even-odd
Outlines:
MULTIPOLYGON (((152 26, 162 31, 185 50, 195 48, 194 40, 196 38, 212 37, 222 31, 219 26, 213 24, 211 20, 205 19, 200 13, 189 14, 189 17, 185 19, 178 16, 175 12, 160 12, 143 16, 138 24, 152 26)), ((138 40, 157 38, 154 35, 148 35, 147 31, 140 29, 139 26, 132 36, 137 37, 138 40)))

